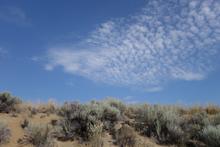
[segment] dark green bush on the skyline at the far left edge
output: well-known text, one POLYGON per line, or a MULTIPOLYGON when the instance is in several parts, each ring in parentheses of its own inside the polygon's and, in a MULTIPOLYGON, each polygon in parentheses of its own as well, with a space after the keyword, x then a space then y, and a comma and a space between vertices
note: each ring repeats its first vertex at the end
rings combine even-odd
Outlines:
POLYGON ((10 93, 0 93, 0 113, 9 113, 16 111, 16 105, 21 103, 17 97, 11 96, 10 93))

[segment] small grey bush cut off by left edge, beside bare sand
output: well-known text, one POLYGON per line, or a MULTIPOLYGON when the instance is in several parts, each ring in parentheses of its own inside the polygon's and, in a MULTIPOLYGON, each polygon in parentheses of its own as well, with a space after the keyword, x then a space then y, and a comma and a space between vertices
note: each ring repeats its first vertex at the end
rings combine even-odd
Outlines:
POLYGON ((0 145, 7 143, 11 137, 11 131, 5 122, 0 121, 0 145))

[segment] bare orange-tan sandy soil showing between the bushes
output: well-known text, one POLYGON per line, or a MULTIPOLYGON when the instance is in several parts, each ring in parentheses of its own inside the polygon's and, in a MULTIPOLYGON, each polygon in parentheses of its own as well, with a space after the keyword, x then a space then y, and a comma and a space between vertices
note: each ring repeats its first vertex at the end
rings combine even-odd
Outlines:
MULTIPOLYGON (((24 135, 24 130, 21 128, 21 122, 28 118, 30 122, 33 123, 50 123, 52 119, 58 119, 59 117, 57 115, 46 115, 46 114, 36 114, 33 117, 29 117, 27 114, 17 114, 16 116, 13 116, 12 114, 0 114, 0 119, 7 122, 8 127, 11 129, 11 139, 10 142, 4 145, 1 145, 1 147, 31 147, 31 146, 24 146, 19 145, 17 143, 18 139, 22 138, 24 135)), ((103 137, 104 141, 104 147, 117 147, 114 145, 114 141, 112 139, 112 136, 109 134, 105 134, 103 137)), ((153 140, 138 136, 138 141, 140 142, 140 147, 167 147, 167 146, 161 146, 157 145, 153 140), (143 145, 145 144, 145 145, 143 145)), ((80 144, 77 141, 67 141, 67 142, 61 142, 57 141, 58 147, 89 147, 89 145, 80 144)))

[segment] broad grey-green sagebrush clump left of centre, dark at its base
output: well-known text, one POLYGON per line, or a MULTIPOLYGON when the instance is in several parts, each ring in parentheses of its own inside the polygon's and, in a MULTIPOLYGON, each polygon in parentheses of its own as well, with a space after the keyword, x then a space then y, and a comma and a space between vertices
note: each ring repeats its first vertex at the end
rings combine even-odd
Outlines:
POLYGON ((58 133, 61 140, 71 140, 74 136, 90 140, 97 130, 110 130, 121 118, 120 110, 105 101, 83 105, 65 103, 59 114, 63 116, 60 121, 61 133, 58 133))

